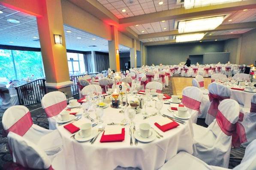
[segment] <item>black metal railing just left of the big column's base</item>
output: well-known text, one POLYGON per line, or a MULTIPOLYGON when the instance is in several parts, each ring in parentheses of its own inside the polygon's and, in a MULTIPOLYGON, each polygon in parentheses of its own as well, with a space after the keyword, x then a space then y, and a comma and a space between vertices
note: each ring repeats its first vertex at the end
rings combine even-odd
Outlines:
POLYGON ((45 79, 37 79, 15 89, 20 105, 29 106, 41 103, 42 97, 46 94, 45 79))

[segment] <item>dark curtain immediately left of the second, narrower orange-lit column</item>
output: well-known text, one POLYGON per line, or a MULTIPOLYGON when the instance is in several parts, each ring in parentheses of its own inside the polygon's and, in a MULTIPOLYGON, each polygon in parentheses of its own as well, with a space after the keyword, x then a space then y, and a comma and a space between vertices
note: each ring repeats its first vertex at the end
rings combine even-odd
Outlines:
POLYGON ((96 55, 96 71, 102 72, 109 68, 109 57, 108 53, 95 53, 96 55))

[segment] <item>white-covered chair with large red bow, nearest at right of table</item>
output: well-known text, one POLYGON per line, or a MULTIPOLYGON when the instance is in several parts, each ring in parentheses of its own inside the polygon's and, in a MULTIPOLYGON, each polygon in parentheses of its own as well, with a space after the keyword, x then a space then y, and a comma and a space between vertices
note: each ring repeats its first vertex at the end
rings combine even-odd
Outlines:
POLYGON ((217 119, 208 128, 193 124, 193 155, 209 165, 228 167, 232 136, 226 133, 238 121, 239 105, 226 99, 218 109, 217 119))

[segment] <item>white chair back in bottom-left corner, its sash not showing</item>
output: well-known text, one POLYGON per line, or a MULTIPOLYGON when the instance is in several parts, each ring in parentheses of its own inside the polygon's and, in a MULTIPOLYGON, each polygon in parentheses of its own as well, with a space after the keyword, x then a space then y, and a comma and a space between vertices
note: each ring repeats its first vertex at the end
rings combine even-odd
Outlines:
POLYGON ((27 168, 51 169, 51 160, 36 144, 13 132, 7 135, 7 139, 14 162, 27 168))

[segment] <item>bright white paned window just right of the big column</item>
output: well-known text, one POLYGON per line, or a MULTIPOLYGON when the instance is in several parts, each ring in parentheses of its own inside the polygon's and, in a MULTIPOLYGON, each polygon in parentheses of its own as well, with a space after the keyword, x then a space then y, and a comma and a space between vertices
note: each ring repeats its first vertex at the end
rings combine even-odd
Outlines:
POLYGON ((69 75, 84 74, 84 55, 79 53, 67 53, 69 75))

